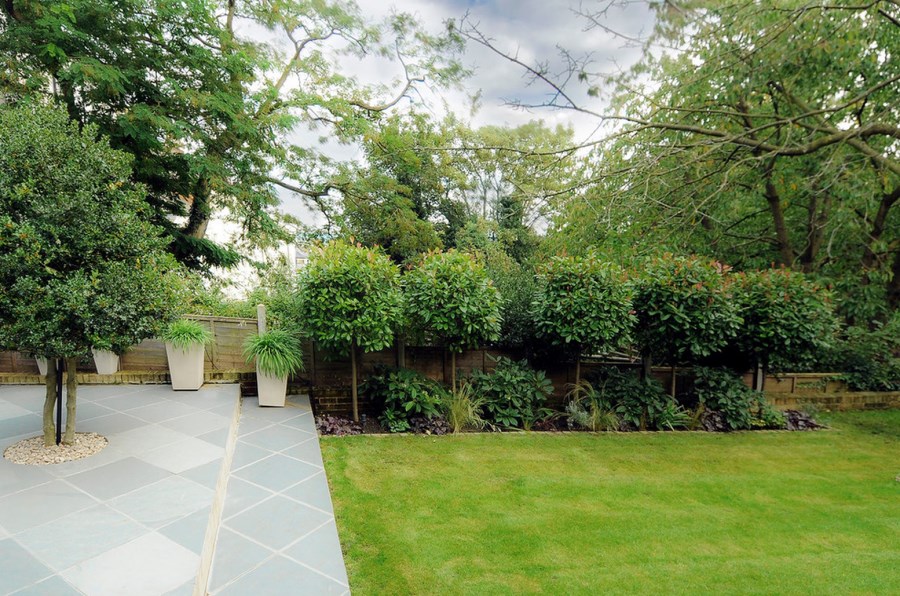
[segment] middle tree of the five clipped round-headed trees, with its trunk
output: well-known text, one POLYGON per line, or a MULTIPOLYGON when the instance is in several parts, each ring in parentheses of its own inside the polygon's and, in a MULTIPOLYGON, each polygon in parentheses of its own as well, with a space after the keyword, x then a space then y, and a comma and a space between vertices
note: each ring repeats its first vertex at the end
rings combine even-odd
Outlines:
POLYGON ((609 352, 631 341, 631 286, 621 267, 592 255, 554 257, 540 268, 539 277, 534 302, 538 333, 575 348, 578 386, 583 352, 609 352))

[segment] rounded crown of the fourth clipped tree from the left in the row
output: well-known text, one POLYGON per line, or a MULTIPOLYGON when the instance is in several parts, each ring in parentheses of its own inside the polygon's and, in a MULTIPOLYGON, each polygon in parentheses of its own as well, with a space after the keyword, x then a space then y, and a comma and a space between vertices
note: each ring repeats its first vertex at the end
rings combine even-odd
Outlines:
POLYGON ((642 354, 696 362, 734 339, 741 316, 728 268, 700 257, 649 260, 635 284, 635 338, 642 354))

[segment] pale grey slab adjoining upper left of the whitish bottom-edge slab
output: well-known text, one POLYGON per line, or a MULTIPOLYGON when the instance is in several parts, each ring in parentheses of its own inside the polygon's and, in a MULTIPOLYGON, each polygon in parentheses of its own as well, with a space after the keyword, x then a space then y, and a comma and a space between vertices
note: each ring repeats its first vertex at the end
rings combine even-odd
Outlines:
POLYGON ((105 505, 25 530, 16 540, 56 571, 134 540, 146 528, 105 505))

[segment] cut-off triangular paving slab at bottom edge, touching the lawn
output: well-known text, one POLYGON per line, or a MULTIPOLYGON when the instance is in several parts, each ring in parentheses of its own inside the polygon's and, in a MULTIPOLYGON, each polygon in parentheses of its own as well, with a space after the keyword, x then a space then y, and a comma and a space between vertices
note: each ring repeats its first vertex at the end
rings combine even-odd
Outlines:
POLYGON ((276 556, 215 594, 283 596, 284 594, 343 594, 347 587, 308 567, 276 556))

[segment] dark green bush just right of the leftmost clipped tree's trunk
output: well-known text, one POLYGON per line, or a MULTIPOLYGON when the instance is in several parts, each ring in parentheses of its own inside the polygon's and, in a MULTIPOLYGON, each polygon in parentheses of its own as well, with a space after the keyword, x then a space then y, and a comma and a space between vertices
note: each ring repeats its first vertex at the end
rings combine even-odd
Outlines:
POLYGON ((410 429, 413 417, 434 418, 440 414, 444 389, 416 371, 381 367, 360 386, 360 391, 383 406, 379 418, 391 432, 410 429))

